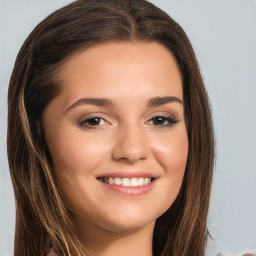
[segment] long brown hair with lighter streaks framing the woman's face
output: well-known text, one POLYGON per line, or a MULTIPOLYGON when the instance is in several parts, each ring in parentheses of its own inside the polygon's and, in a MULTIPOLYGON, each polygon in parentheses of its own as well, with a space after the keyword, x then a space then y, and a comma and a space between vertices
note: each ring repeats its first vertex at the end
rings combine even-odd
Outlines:
POLYGON ((7 144, 16 198, 15 256, 43 256, 50 240, 60 255, 89 255, 56 188, 41 115, 61 90, 57 75, 67 58, 108 41, 155 41, 177 60, 189 153, 180 193, 156 221, 153 254, 204 254, 214 139, 208 98, 189 39, 174 20, 147 1, 79 0, 32 31, 10 79, 7 144))

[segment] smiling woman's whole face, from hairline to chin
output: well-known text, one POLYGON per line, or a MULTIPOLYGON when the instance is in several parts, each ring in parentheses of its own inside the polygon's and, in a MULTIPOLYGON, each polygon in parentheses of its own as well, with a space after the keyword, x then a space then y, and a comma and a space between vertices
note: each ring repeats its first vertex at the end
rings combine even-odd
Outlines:
POLYGON ((76 221, 154 224, 174 202, 188 137, 182 78, 162 45, 107 43, 72 56, 43 113, 57 187, 76 221))

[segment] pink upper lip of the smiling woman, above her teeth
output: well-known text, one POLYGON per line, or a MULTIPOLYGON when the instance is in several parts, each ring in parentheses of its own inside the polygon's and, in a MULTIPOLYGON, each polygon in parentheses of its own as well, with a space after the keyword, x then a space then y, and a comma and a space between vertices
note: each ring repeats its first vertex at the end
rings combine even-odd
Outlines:
POLYGON ((97 178, 108 178, 108 177, 118 177, 118 178, 134 178, 134 177, 143 177, 143 178, 158 178, 157 175, 148 171, 138 171, 138 170, 127 170, 127 171, 118 171, 118 172, 108 172, 99 175, 97 178))

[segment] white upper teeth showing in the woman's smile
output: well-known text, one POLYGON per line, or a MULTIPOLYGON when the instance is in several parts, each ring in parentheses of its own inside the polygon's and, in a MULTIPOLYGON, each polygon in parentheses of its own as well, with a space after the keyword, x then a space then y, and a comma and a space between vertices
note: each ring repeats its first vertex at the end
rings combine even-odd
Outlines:
POLYGON ((104 183, 121 185, 125 187, 145 186, 151 183, 151 178, 100 178, 104 183))

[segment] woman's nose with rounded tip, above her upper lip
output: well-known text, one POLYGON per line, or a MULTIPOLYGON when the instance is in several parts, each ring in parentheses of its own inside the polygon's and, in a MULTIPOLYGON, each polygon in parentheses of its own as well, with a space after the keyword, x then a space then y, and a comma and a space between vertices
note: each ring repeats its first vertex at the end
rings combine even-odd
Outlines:
POLYGON ((130 125, 119 129, 117 133, 112 153, 113 159, 134 163, 148 158, 149 139, 143 128, 130 125))

